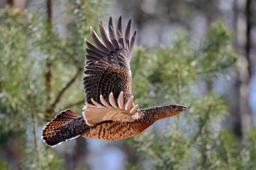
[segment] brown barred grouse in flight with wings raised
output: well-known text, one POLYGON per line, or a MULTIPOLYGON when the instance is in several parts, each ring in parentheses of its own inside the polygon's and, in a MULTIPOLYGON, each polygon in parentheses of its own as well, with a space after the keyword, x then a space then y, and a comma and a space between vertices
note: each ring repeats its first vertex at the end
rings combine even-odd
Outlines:
POLYGON ((85 105, 82 115, 65 109, 48 122, 41 138, 48 146, 57 146, 79 136, 105 140, 133 137, 146 130, 155 121, 188 111, 184 105, 169 104, 139 108, 132 95, 130 61, 136 30, 130 39, 131 19, 123 35, 122 17, 114 31, 112 17, 108 23, 109 36, 99 20, 101 39, 90 28, 96 46, 85 39, 84 67, 85 105))

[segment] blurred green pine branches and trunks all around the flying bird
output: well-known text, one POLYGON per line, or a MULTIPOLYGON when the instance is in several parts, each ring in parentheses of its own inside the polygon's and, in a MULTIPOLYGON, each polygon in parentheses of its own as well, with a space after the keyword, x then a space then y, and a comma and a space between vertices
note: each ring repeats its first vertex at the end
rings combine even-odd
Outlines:
POLYGON ((256 0, 0 0, 0 169, 256 169, 255 45, 256 0), (45 146, 47 121, 82 112, 90 26, 120 15, 137 30, 135 103, 189 111, 130 139, 45 146))

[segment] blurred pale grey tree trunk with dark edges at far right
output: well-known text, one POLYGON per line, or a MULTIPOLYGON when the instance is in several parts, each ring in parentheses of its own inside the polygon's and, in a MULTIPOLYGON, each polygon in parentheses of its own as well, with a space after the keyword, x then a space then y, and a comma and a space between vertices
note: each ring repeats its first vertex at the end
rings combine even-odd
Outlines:
POLYGON ((251 6, 252 0, 235 0, 237 9, 236 35, 238 57, 238 113, 237 131, 241 128, 241 137, 248 133, 252 125, 252 114, 249 107, 249 80, 251 78, 250 49, 251 49, 251 6))

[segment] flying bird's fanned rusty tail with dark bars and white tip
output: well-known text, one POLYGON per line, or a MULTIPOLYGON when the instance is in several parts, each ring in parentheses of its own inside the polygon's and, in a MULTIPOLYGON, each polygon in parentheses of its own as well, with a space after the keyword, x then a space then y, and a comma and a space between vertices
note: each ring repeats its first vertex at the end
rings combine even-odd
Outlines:
POLYGON ((78 138, 88 128, 83 116, 65 109, 48 122, 41 131, 41 138, 48 146, 56 146, 67 140, 78 138))

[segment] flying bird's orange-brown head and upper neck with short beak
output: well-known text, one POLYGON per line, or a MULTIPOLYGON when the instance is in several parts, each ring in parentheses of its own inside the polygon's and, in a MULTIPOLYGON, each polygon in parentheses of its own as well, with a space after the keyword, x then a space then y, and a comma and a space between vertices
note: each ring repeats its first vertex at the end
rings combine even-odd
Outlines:
POLYGON ((165 117, 171 117, 178 115, 178 113, 188 111, 188 108, 183 105, 170 104, 161 106, 161 111, 154 114, 155 120, 163 119, 165 117))

